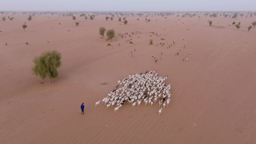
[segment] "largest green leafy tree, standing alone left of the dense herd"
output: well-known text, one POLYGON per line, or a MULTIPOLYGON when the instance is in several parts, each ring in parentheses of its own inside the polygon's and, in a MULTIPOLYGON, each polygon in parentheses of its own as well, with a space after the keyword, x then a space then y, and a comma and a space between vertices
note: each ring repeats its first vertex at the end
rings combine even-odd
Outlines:
POLYGON ((49 83, 53 83, 52 79, 58 77, 57 68, 61 66, 61 53, 56 50, 43 52, 39 57, 35 57, 34 67, 31 68, 32 73, 39 75, 41 79, 48 77, 49 83))

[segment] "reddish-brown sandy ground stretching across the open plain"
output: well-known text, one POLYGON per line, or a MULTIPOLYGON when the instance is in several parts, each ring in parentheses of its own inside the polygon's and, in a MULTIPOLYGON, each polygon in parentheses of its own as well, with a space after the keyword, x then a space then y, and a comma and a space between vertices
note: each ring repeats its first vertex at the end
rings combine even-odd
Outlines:
POLYGON ((146 23, 144 17, 137 21, 137 16, 129 16, 127 25, 116 16, 113 21, 105 16, 85 20, 76 15, 72 20, 39 15, 31 21, 23 15, 13 17, 0 21, 1 144, 256 143, 256 29, 247 31, 255 17, 153 16, 146 23), (242 27, 237 30, 233 21, 242 27), (98 34, 100 26, 117 34, 143 34, 106 41, 106 35, 101 39, 98 34), (150 31, 161 36, 146 36, 150 31), (134 44, 126 42, 129 38, 134 44), (167 49, 173 41, 176 45, 167 49), (160 42, 168 43, 161 47, 160 42), (106 47, 107 43, 112 46, 106 47), (54 84, 30 70, 34 56, 50 49, 62 55, 54 84), (191 58, 183 61, 188 53, 191 58), (155 64, 152 56, 162 59, 155 64), (147 70, 168 75, 165 83, 171 84, 170 105, 160 116, 158 104, 125 105, 117 113, 104 104, 95 108, 118 80, 147 70), (107 85, 100 85, 104 82, 107 85))

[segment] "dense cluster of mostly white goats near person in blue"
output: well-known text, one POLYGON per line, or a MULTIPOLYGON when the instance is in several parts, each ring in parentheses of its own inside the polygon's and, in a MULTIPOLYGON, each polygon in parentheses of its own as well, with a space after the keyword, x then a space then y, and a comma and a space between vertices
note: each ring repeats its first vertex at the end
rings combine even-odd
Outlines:
MULTIPOLYGON (((150 106, 158 101, 159 107, 163 104, 165 108, 169 105, 171 96, 170 84, 167 86, 164 84, 167 77, 159 76, 156 71, 130 74, 127 78, 118 81, 116 89, 103 98, 102 104, 104 103, 107 108, 114 106, 114 113, 125 104, 132 104, 132 108, 136 105, 140 106, 141 101, 150 106)), ((100 102, 101 100, 97 101, 95 107, 100 105, 100 102)), ((158 112, 160 116, 162 108, 158 112)))

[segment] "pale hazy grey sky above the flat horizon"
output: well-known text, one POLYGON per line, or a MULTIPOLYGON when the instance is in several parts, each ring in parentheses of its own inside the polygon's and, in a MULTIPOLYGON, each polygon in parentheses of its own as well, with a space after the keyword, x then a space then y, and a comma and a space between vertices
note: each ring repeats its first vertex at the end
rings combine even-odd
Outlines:
POLYGON ((256 0, 0 0, 23 11, 256 11, 256 0))

